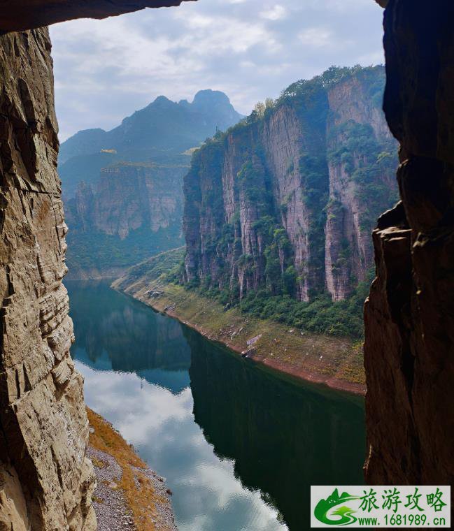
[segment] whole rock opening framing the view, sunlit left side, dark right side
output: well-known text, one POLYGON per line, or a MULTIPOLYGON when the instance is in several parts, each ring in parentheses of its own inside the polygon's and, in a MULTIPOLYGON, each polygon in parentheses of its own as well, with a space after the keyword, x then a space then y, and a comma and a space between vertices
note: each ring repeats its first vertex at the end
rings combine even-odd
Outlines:
MULTIPOLYGON (((96 528, 82 381, 69 355, 66 225, 43 25, 179 3, 24 0, 0 8, 2 528, 96 528)), ((364 312, 365 474, 376 484, 451 484, 454 6, 379 3, 401 201, 374 231, 377 276, 364 312)))

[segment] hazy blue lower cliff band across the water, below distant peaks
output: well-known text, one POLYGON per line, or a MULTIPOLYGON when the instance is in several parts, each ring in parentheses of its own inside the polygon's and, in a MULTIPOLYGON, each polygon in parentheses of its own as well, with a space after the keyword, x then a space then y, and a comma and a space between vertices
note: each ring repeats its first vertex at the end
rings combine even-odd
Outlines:
POLYGON ((184 165, 117 163, 65 201, 69 277, 115 277, 183 244, 184 165))

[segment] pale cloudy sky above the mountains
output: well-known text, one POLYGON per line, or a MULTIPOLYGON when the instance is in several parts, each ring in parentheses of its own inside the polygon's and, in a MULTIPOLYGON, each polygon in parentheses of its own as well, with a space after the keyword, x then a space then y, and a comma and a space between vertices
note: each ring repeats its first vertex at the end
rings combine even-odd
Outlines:
POLYGON ((373 0, 198 0, 50 28, 59 138, 112 129, 164 95, 222 90, 247 115, 333 64, 383 64, 373 0))

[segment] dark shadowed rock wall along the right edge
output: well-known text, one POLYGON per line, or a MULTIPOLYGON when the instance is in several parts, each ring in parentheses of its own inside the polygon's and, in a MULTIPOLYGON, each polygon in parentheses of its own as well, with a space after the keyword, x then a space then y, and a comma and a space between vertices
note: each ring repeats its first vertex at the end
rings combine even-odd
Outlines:
POLYGON ((365 307, 371 483, 453 483, 454 5, 390 0, 385 112, 402 203, 374 231, 365 307))

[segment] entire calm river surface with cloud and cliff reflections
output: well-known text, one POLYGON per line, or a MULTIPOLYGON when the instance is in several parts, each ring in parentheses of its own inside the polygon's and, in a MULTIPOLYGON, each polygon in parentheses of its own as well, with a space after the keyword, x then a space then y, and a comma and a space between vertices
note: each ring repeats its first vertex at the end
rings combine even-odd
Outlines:
POLYGON ((66 282, 85 399, 166 478, 180 531, 299 531, 311 484, 362 484, 360 398, 295 383, 106 282, 66 282))

